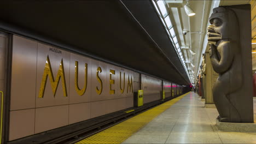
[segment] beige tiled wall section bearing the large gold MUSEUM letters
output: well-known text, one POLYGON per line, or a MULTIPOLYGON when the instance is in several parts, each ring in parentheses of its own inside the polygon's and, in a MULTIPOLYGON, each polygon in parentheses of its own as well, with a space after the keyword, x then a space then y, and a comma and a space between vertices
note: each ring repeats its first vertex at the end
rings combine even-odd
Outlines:
MULTIPOLYGON (((0 37, 0 41, 2 43, 3 37, 0 37)), ((0 51, 3 51, 1 46, 0 51)), ((2 78, 0 75, 0 80, 2 78)), ((146 101, 160 99, 161 80, 150 80, 152 83, 144 85, 153 86, 153 89, 145 91, 146 97, 149 97, 146 101), (158 93, 157 97, 155 93, 158 93)), ((134 71, 14 35, 9 140, 132 107, 133 92, 138 89, 139 74, 134 71), (76 61, 78 65, 75 65, 76 61), (79 95, 75 88, 75 68, 78 67, 78 87, 83 90, 85 63, 88 71, 87 86, 85 93, 79 95), (49 64, 54 78, 52 82, 49 64), (43 78, 47 73, 44 86, 43 78), (60 76, 59 85, 56 82, 57 74, 60 76), (114 80, 111 88, 110 80, 114 80), (110 90, 114 90, 114 93, 110 90)))

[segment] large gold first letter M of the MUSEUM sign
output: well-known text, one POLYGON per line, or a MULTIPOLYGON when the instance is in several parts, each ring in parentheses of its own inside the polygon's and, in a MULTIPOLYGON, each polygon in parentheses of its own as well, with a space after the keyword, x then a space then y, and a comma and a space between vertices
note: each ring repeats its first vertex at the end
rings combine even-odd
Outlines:
POLYGON ((60 68, 58 70, 56 80, 54 80, 53 70, 51 70, 50 59, 49 59, 49 56, 47 56, 45 67, 44 67, 43 79, 41 82, 38 98, 44 97, 44 91, 45 91, 45 86, 46 86, 46 81, 47 81, 48 75, 50 78, 51 89, 53 90, 54 97, 55 97, 57 87, 60 82, 60 78, 62 81, 63 95, 64 95, 64 97, 67 97, 67 87, 66 87, 65 73, 64 73, 64 67, 63 67, 63 60, 61 59, 60 68))

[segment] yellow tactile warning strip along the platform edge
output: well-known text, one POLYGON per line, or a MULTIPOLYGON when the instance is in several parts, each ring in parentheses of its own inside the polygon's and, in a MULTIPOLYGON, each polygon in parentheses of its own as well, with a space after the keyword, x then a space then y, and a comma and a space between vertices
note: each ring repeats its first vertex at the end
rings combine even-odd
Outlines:
POLYGON ((100 133, 87 137, 86 139, 77 143, 122 143, 133 133, 141 129, 144 125, 152 121, 156 116, 160 115, 160 113, 167 110, 170 106, 181 100, 187 94, 188 93, 167 101, 164 104, 156 106, 153 109, 127 119, 124 122, 103 130, 100 133))

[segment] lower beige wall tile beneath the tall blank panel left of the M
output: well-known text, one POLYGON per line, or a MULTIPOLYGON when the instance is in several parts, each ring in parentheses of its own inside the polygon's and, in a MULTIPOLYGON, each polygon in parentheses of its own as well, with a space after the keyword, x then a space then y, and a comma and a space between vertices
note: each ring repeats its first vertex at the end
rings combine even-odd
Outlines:
POLYGON ((35 109, 10 112, 9 141, 34 134, 35 109))

